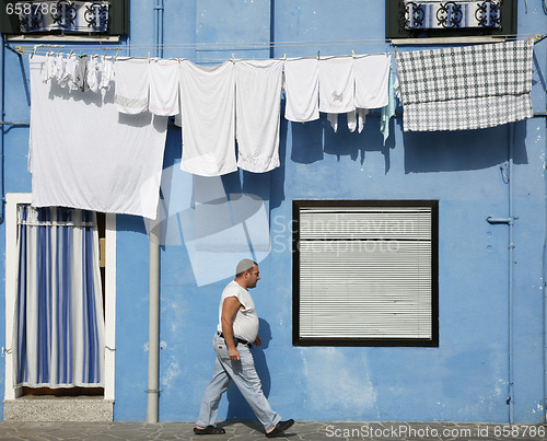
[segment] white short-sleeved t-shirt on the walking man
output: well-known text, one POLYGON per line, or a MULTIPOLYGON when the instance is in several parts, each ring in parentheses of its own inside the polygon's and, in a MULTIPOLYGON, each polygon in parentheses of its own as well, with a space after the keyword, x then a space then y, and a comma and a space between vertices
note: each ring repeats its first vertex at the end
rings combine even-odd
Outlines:
POLYGON ((234 337, 253 343, 258 335, 258 315, 255 309, 255 302, 249 292, 235 280, 226 285, 219 305, 219 325, 217 330, 222 332, 222 306, 224 300, 229 297, 235 297, 243 305, 244 310, 238 310, 233 322, 234 337))

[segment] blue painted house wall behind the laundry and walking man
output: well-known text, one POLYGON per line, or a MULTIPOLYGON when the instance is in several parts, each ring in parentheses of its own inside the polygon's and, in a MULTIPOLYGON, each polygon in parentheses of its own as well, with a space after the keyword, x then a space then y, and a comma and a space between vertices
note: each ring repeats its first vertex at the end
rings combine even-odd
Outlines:
MULTIPOLYGON (((133 56, 153 54, 149 3, 131 2, 131 34, 123 43, 130 45, 126 53, 133 56)), ((519 2, 520 34, 546 34, 546 22, 539 0, 529 0, 527 7, 519 2)), ((165 57, 209 63, 232 54, 268 58, 312 56, 318 50, 322 56, 393 51, 383 43, 381 1, 165 0, 164 32, 165 57), (275 46, 260 45, 270 38, 275 46), (196 50, 196 44, 203 45, 196 50)), ((399 50, 411 49, 419 47, 399 50)), ((546 112, 546 55, 547 42, 543 42, 535 47, 536 113, 546 112)), ((20 61, 5 51, 5 120, 28 119, 27 71, 24 58, 20 61)), ((383 146, 379 126, 379 116, 371 115, 362 134, 350 134, 342 117, 334 134, 324 116, 305 125, 282 118, 281 167, 264 175, 237 172, 222 179, 199 179, 178 170, 181 129, 170 126, 162 189, 171 189, 170 204, 178 214, 165 222, 168 230, 161 252, 161 420, 197 417, 213 367, 218 302, 231 279, 223 265, 229 259, 234 266, 245 254, 235 230, 216 249, 224 254, 211 253, 207 244, 196 248, 194 242, 199 241, 193 240, 219 225, 202 224, 203 211, 193 210, 190 204, 216 195, 214 219, 225 229, 223 217, 228 224, 237 218, 236 195, 241 198, 243 192, 255 195, 259 204, 253 209, 258 214, 264 210, 270 222, 269 253, 259 231, 261 241, 253 242, 261 260, 261 280, 253 295, 265 341, 254 353, 265 392, 283 417, 508 421, 509 232, 507 225, 491 225, 486 218, 508 216, 509 186, 500 167, 508 165, 509 129, 408 134, 403 132, 399 115, 393 118, 383 146), (439 348, 292 346, 293 199, 439 199, 439 348), (201 283, 205 279, 210 282, 201 283)), ((30 192, 28 129, 11 128, 4 137, 5 190, 30 192)), ((545 117, 515 125, 516 422, 539 422, 544 417, 546 139, 545 117)), ((117 229, 115 419, 144 420, 147 225, 140 218, 119 216, 117 229)), ((4 246, 3 229, 0 242, 4 246)), ((3 307, 2 303, 0 314, 3 307)), ((3 333, 2 327, 0 338, 3 333)), ((254 417, 233 390, 222 401, 219 418, 254 417)))

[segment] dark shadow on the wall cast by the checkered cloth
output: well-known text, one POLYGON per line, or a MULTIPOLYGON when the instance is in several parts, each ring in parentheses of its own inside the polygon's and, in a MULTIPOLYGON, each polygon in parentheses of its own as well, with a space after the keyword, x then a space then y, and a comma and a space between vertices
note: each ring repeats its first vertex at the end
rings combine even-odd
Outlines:
MULTIPOLYGON (((508 161, 510 125, 481 130, 404 132, 405 173, 488 169, 508 161)), ((515 124, 513 161, 527 164, 526 123, 515 124)))

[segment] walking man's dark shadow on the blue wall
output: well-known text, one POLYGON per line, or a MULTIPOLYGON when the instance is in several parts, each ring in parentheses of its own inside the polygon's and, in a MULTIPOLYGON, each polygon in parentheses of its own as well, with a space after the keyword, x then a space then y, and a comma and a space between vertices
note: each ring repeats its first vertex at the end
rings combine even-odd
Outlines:
MULTIPOLYGON (((260 382, 263 383, 263 392, 266 397, 269 396, 271 390, 271 376, 266 363, 266 355, 264 350, 268 348, 271 340, 271 328, 268 322, 264 318, 259 318, 259 330, 258 335, 263 340, 263 345, 259 347, 254 346, 251 352, 255 359, 255 368, 260 382)), ((256 419, 255 414, 251 409, 249 405, 240 393, 235 384, 232 384, 226 392, 228 397, 228 413, 226 420, 254 420, 256 419)), ((275 409, 274 409, 275 410, 275 409)))

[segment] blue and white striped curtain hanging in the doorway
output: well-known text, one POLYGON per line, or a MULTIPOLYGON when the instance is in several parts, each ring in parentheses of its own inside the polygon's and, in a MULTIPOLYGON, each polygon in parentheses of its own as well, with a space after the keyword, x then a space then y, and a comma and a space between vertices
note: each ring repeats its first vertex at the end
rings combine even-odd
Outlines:
POLYGON ((103 386, 95 213, 19 206, 15 386, 103 386))

